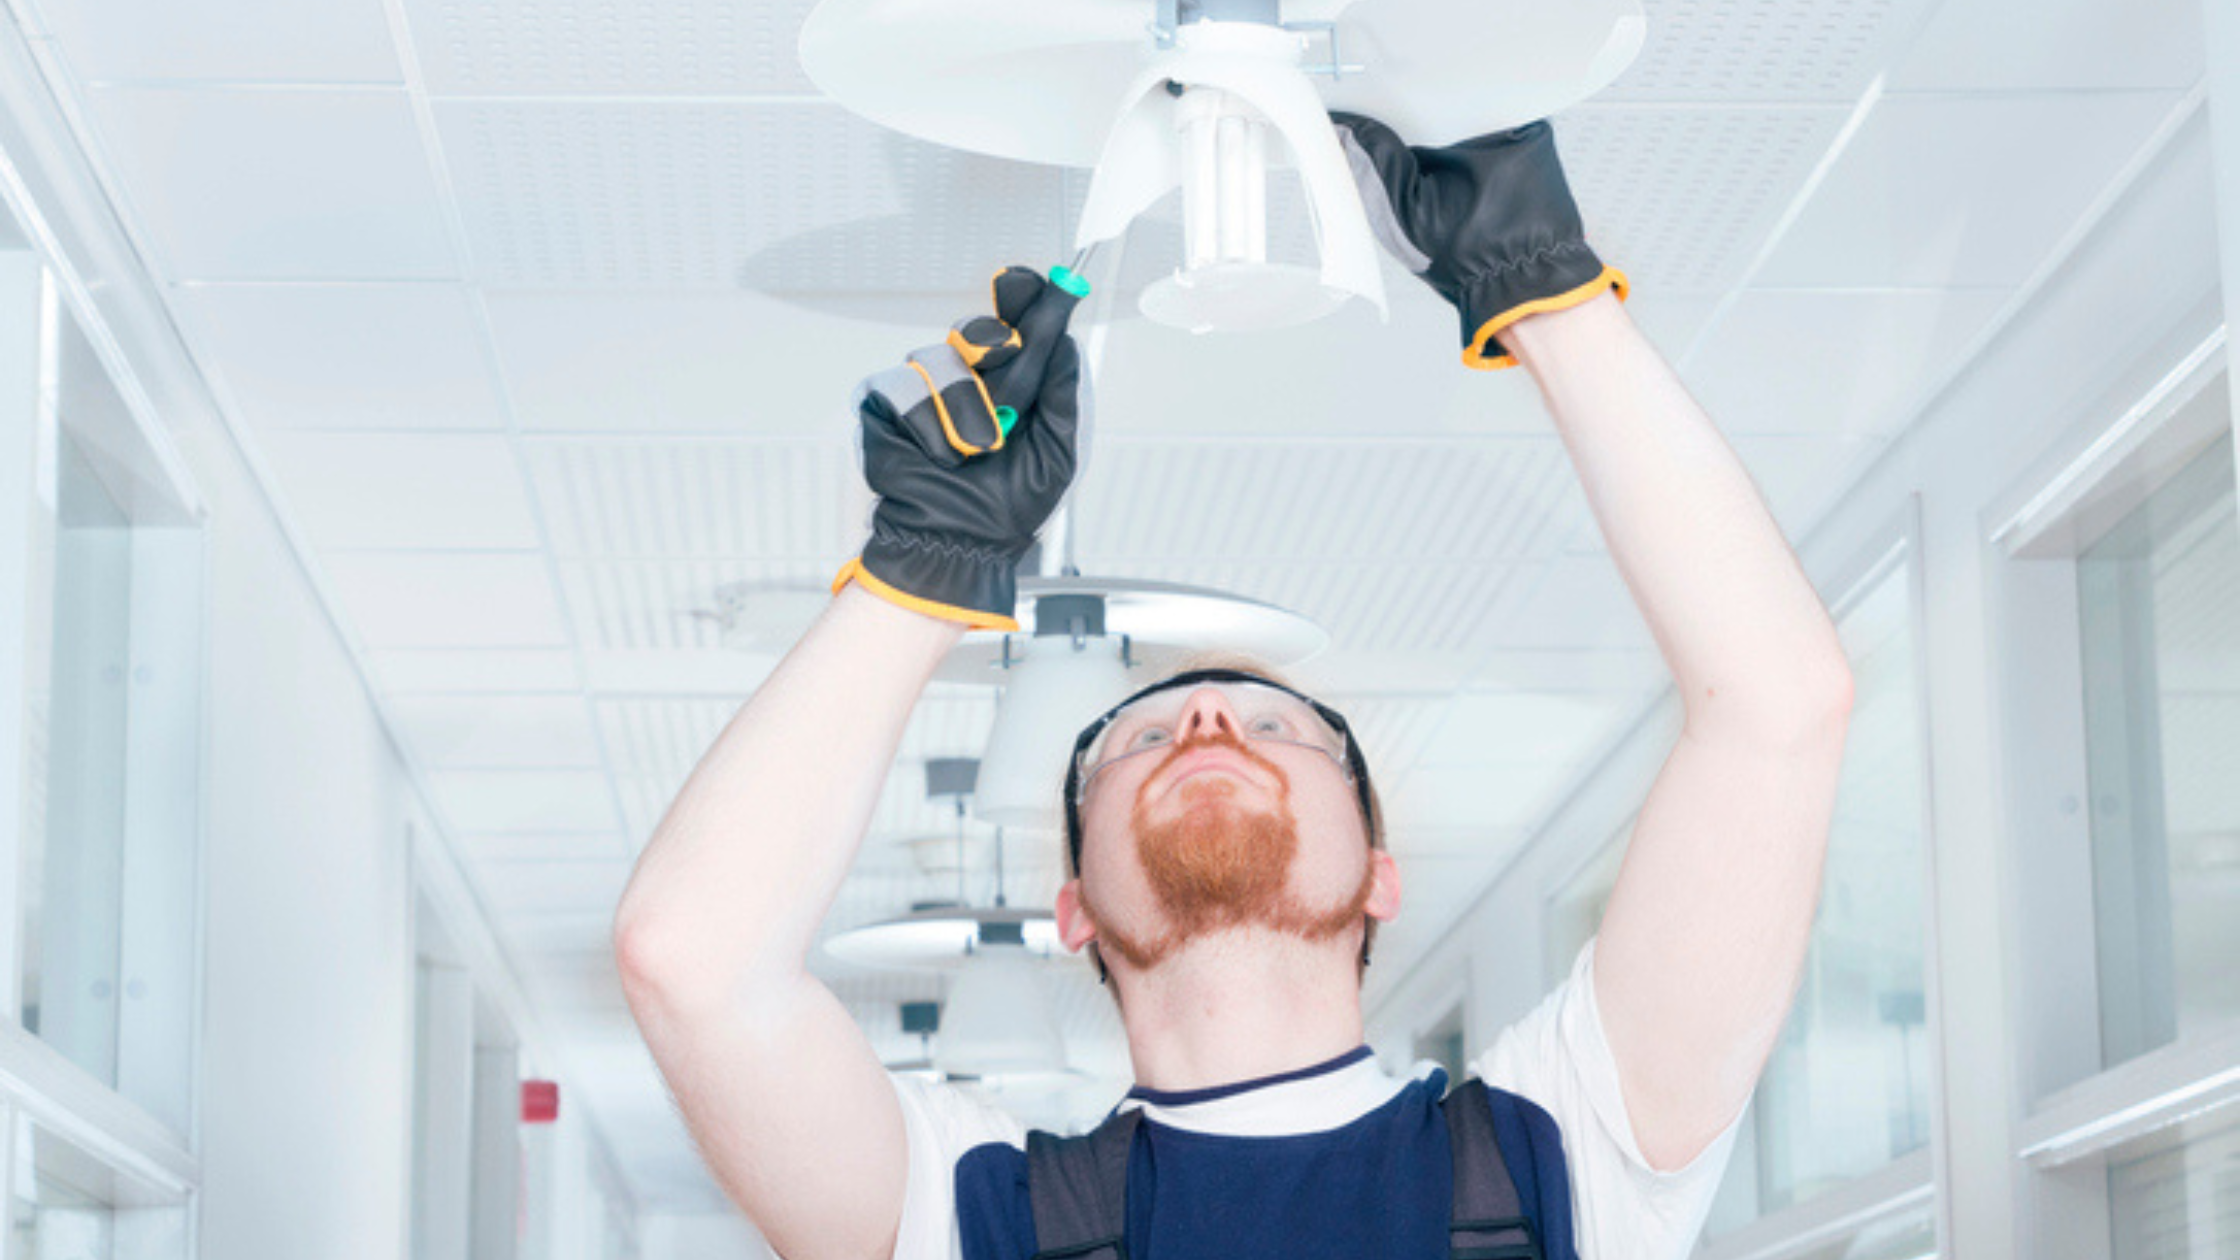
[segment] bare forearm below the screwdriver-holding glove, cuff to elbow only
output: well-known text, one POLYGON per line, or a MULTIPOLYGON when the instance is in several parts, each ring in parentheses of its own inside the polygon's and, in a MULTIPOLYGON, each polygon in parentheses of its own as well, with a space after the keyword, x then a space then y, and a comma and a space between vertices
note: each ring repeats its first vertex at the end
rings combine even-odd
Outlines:
POLYGON ((963 630, 847 585, 694 767, 616 910, 623 966, 717 991, 802 973, 912 706, 963 630))

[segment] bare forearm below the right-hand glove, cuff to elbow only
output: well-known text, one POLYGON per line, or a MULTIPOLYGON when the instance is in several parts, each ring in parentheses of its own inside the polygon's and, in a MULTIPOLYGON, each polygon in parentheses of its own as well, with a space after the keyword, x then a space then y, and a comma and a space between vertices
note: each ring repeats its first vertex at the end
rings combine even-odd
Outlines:
POLYGON ((1691 724, 1781 717, 1846 677, 1756 484, 1615 296, 1503 334, 1539 381, 1691 724))

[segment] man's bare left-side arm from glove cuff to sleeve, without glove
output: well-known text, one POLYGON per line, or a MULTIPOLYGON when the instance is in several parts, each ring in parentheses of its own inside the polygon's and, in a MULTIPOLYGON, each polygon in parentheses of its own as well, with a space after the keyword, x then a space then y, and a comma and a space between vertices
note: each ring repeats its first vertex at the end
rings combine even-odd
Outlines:
POLYGON ((806 962, 961 634, 842 587, 701 758, 616 912, 623 991, 701 1157, 791 1260, 894 1253, 903 1112, 806 962))

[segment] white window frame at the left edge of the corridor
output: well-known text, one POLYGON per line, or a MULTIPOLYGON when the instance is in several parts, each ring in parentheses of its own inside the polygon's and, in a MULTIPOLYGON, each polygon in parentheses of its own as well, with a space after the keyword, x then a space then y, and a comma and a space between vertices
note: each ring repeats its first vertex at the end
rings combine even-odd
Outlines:
MULTIPOLYGON (((7 25, 0 22, 0 27, 7 25)), ((123 507, 137 527, 134 560, 143 552, 161 552, 164 572, 155 572, 159 565, 134 565, 130 634, 137 657, 143 648, 155 652, 159 668, 179 682, 179 686, 159 688, 166 695, 157 697, 155 704, 166 711, 168 735, 177 738, 181 726, 188 733, 179 747, 170 749, 175 756, 166 756, 152 773, 134 767, 128 796, 148 794, 177 803, 179 794, 186 794, 186 805, 166 821, 168 832, 159 836, 172 850, 184 841, 186 870, 164 865, 128 874, 119 897, 130 901, 161 879, 170 881, 175 899, 184 899, 177 908, 186 915, 184 930, 193 942, 188 957, 181 960, 184 971, 177 975, 179 1000, 186 1002, 184 1045, 168 1047, 177 1063, 166 1063, 164 1074, 175 1076, 175 1085, 184 1087, 186 1128, 155 1117, 22 1027, 22 834, 20 825, 11 825, 7 834, 16 843, 4 845, 4 854, 0 854, 0 910, 7 915, 4 930, 0 930, 0 1000, 9 1009, 9 1018, 0 1020, 0 1123, 7 1125, 9 1134, 9 1141, 0 1143, 0 1177, 13 1186, 18 1173, 16 1125, 36 1123, 116 1173, 141 1182, 150 1193, 177 1197, 186 1222, 184 1253, 193 1256, 199 1247, 202 1206, 202 1161, 197 1155, 206 966, 202 908, 208 879, 202 852, 208 832, 208 803, 199 789, 199 767, 208 760, 211 729, 211 706, 204 704, 211 693, 204 583, 208 511, 146 381, 110 323, 121 316, 114 296, 96 296, 67 249, 76 238, 65 233, 76 231, 76 224, 47 215, 49 206, 72 204, 69 188, 60 186, 54 173, 56 161, 67 161, 67 157, 58 157, 60 141, 56 137, 67 135, 67 123, 54 114, 54 103, 45 96, 45 72, 36 52, 13 29, 0 31, 0 215, 9 217, 22 238, 20 247, 0 249, 0 260, 7 262, 0 267, 0 303, 13 307, 11 316, 0 316, 0 327, 9 334, 29 334, 36 343, 29 361, 18 359, 11 368, 31 372, 36 401, 20 415, 0 413, 0 475, 31 489, 31 502, 36 502, 40 489, 52 491, 52 466, 43 466, 38 444, 63 426, 85 433, 101 448, 99 462, 108 473, 114 473, 112 487, 130 487, 130 502, 123 507), (29 323, 22 323, 25 318, 29 323), (65 374, 101 386, 99 397, 87 395, 83 415, 74 406, 67 421, 58 413, 65 401, 65 374), (152 534, 166 538, 152 538, 152 534), (164 634, 150 632, 143 596, 157 590, 170 601, 184 601, 168 608, 172 619, 181 608, 188 610, 190 634, 179 634, 177 623, 166 623, 164 634), (186 711, 177 708, 181 693, 186 711)), ((63 177, 67 175, 74 170, 63 177)), ((0 354, 7 352, 0 348, 0 354)), ((13 352, 22 354, 25 343, 18 341, 13 352)), ((47 498, 52 502, 52 493, 47 498)), ((22 507, 31 509, 31 502, 22 507)), ((20 511, 7 513, 7 520, 0 522, 0 578, 18 590, 25 590, 29 576, 29 511, 20 511)), ((16 648, 9 659, 22 659, 27 621, 25 601, 0 601, 0 643, 16 648)), ((22 670, 7 673, 20 675, 22 670)), ((0 760, 4 760, 9 776, 7 787, 0 789, 0 807, 11 818, 22 816, 25 722, 22 677, 9 677, 0 682, 0 760)), ((137 744, 134 753, 139 753, 137 744)), ((141 854, 148 850, 148 836, 137 832, 139 827, 128 825, 125 845, 141 854)), ((181 854, 170 852, 168 856, 181 854)), ((123 912, 132 915, 130 904, 123 912)), ((179 926, 177 919, 170 926, 179 926)), ((172 1009, 172 1016, 179 1011, 172 1009)), ((121 1060, 119 1074, 123 1072, 125 1063, 121 1060)))

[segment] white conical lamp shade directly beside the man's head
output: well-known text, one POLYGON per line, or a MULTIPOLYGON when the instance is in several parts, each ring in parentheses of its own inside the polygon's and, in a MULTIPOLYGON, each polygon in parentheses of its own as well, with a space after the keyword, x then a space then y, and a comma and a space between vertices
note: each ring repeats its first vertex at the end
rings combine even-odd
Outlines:
POLYGON ((1012 639, 1010 679, 981 751, 972 814, 997 827, 1064 827, 1060 794, 1073 740, 1127 693, 1118 639, 1086 639, 1080 650, 1066 634, 1012 639))

